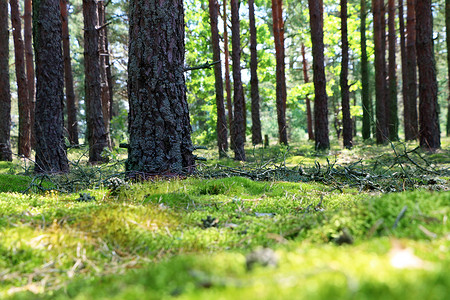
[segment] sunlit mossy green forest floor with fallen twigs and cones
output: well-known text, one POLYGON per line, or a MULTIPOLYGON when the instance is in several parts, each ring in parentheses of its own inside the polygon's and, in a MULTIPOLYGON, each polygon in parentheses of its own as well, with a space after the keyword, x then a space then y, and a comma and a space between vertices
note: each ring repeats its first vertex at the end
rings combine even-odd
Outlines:
POLYGON ((143 183, 123 149, 70 149, 60 176, 0 162, 0 298, 448 299, 442 146, 197 150, 195 176, 143 183))

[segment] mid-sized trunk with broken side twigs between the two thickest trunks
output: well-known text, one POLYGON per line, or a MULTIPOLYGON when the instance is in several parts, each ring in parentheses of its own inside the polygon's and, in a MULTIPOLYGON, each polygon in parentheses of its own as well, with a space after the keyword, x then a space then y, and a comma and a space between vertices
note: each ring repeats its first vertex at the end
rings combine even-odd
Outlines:
POLYGON ((103 161, 101 156, 104 148, 108 147, 108 139, 103 120, 98 10, 95 0, 83 0, 84 18, 84 70, 85 70, 85 102, 87 140, 89 142, 89 162, 103 161))

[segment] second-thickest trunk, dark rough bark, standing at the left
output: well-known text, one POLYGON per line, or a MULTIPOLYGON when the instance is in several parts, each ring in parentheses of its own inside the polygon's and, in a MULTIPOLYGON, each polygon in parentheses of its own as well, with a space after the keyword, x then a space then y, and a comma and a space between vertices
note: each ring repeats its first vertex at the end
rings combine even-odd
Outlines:
POLYGON ((69 171, 64 144, 64 70, 59 1, 33 2, 33 42, 36 58, 37 173, 69 171))

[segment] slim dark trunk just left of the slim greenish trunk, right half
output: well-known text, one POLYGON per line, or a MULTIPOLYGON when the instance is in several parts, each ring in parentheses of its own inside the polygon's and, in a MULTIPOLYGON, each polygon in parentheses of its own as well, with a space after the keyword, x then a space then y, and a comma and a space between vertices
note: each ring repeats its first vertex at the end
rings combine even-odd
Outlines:
POLYGON ((347 33, 347 0, 341 0, 341 35, 342 35, 342 61, 341 61, 341 100, 344 147, 353 146, 352 118, 350 115, 350 91, 348 86, 348 33, 347 33))

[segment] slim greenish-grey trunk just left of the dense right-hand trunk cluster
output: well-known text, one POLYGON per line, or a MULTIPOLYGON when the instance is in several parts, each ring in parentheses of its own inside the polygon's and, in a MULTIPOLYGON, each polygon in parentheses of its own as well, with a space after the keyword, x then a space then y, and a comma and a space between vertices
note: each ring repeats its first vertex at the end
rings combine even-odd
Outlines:
POLYGON ((373 108, 370 98, 369 86, 369 63, 367 58, 367 39, 366 39, 366 18, 367 18, 367 0, 361 0, 361 84, 362 84, 362 106, 363 106, 363 139, 370 139, 370 133, 373 122, 373 108))

